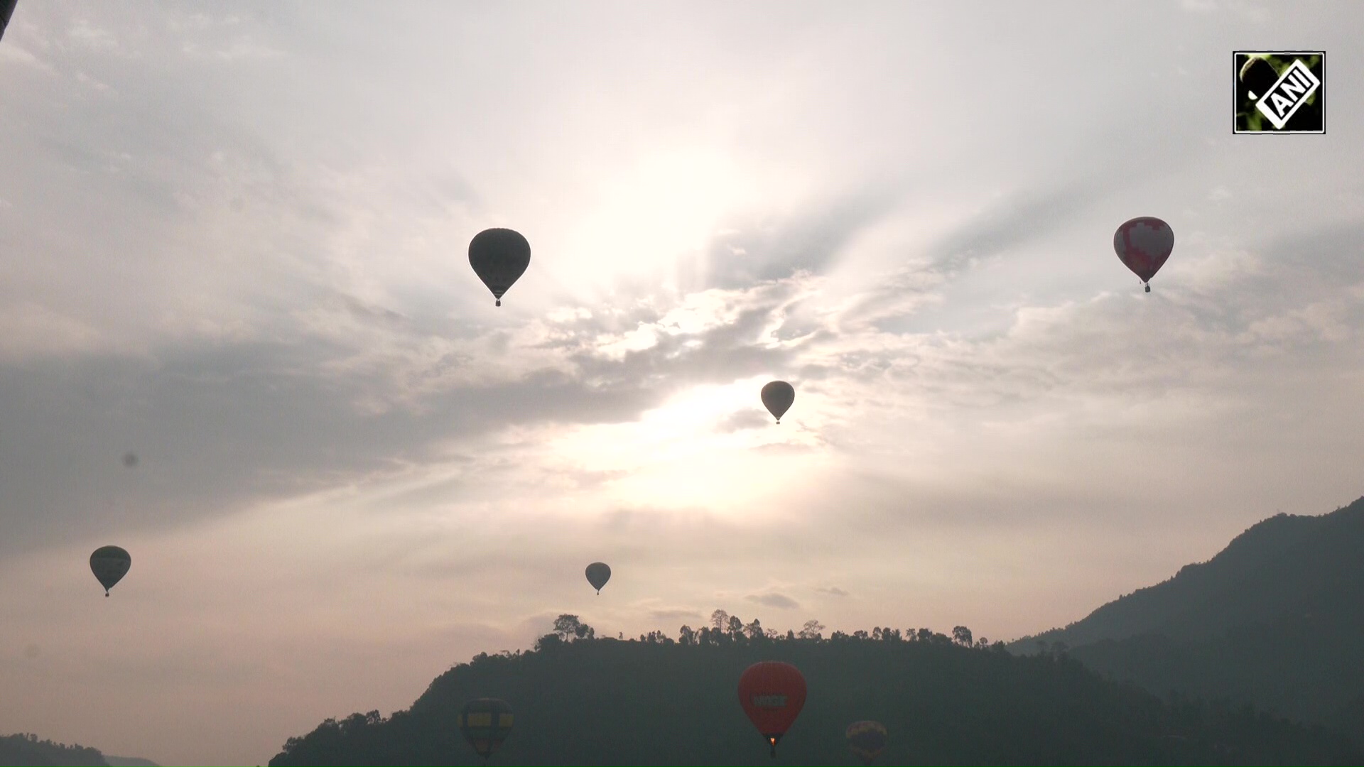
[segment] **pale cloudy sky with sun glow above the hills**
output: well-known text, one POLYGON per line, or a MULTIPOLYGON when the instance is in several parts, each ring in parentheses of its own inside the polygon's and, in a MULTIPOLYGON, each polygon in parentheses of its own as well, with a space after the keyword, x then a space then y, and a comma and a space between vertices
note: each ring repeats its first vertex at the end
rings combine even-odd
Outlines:
POLYGON ((561 613, 1011 640, 1349 504, 1359 29, 1312 0, 19 0, 0 733, 265 764, 561 613), (1327 53, 1326 134, 1233 135, 1232 52, 1294 48, 1327 53), (1176 235, 1150 293, 1113 252, 1138 216, 1176 235), (532 247, 502 307, 468 263, 491 227, 532 247), (104 545, 132 557, 108 599, 104 545))

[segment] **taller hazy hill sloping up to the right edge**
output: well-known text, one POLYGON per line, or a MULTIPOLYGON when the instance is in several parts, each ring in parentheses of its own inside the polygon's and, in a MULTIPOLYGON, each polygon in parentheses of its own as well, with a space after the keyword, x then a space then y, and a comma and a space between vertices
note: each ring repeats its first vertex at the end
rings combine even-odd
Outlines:
POLYGON ((1210 561, 1009 650, 1038 640, 1159 695, 1252 701, 1364 744, 1364 498, 1267 519, 1210 561))

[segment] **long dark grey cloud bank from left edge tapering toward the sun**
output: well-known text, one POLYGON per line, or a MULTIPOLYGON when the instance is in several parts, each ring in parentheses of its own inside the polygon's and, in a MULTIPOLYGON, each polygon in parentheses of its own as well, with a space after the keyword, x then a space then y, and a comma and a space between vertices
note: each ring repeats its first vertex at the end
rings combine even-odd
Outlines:
MULTIPOLYGON (((659 343, 623 356, 600 348, 610 317, 461 341, 348 295, 299 310, 292 337, 146 356, 65 359, 93 349, 94 330, 11 323, 48 334, 15 351, 49 356, 0 363, 0 429, 26 435, 15 460, 31 467, 0 489, 11 531, 0 549, 23 549, 75 519, 90 532, 115 519, 184 524, 337 482, 400 478, 443 465, 450 445, 522 426, 633 420, 690 386, 779 367, 794 352, 753 341, 792 287, 719 292, 694 323, 663 313, 652 323, 659 343), (498 344, 520 349, 522 362, 475 363, 498 344), (142 459, 138 480, 113 472, 128 450, 142 459)), ((25 337, 16 332, 10 344, 25 337)), ((578 474, 580 484, 619 476, 578 474)))

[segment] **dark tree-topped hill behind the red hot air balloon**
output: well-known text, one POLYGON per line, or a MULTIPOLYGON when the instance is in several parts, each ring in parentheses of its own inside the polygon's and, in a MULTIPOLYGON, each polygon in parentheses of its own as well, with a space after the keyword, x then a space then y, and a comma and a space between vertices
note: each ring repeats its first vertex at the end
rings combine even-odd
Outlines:
POLYGON ((874 633, 881 639, 542 640, 535 652, 480 655, 451 669, 389 719, 376 711, 329 719, 291 738, 270 767, 472 767, 481 760, 454 722, 466 700, 483 696, 516 710, 495 767, 768 763, 735 692, 743 669, 764 659, 794 663, 809 684, 805 711, 777 747, 787 766, 851 763, 843 729, 855 719, 889 729, 881 764, 1364 764, 1342 757, 1339 734, 1254 711, 1162 703, 1073 659, 964 647, 941 633, 914 641, 874 633))

